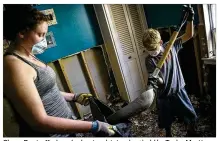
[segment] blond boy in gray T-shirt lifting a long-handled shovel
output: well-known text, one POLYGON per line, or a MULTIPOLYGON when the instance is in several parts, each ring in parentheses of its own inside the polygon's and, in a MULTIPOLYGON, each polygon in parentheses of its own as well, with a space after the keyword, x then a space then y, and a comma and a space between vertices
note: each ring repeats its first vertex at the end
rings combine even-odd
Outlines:
MULTIPOLYGON (((157 109, 158 109, 158 126, 166 130, 166 136, 171 137, 171 125, 177 116, 183 119, 187 125, 187 136, 196 136, 195 122, 197 115, 189 100, 185 90, 185 82, 178 60, 178 52, 182 48, 182 43, 193 37, 193 8, 188 8, 189 17, 185 33, 176 39, 173 47, 160 70, 159 78, 163 80, 163 84, 158 85, 157 109), (161 87, 160 87, 161 86, 161 87)), ((143 45, 149 54, 146 58, 146 67, 151 76, 157 66, 158 61, 163 55, 168 42, 163 43, 160 33, 155 29, 147 29, 143 35, 143 45)), ((148 84, 156 84, 153 78, 148 79, 148 84)))

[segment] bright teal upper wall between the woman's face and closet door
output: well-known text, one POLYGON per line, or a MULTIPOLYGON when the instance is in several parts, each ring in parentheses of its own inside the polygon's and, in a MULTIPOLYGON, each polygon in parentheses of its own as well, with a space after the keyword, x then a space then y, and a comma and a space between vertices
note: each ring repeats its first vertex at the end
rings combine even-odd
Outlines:
POLYGON ((49 26, 57 46, 37 55, 48 63, 62 57, 103 44, 103 39, 95 16, 93 5, 84 4, 42 4, 39 10, 53 8, 56 25, 49 26))

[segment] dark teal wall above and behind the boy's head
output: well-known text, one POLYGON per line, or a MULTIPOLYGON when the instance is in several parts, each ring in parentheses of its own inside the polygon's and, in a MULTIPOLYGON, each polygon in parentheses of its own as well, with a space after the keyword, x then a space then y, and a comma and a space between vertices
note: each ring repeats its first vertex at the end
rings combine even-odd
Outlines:
MULTIPOLYGON (((167 27, 178 25, 182 14, 182 4, 145 4, 144 11, 148 27, 167 27)), ((198 24, 197 5, 192 5, 195 11, 194 23, 198 24)))

